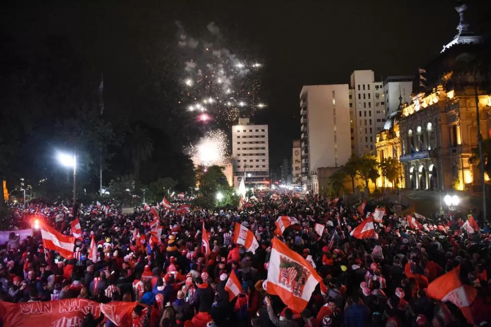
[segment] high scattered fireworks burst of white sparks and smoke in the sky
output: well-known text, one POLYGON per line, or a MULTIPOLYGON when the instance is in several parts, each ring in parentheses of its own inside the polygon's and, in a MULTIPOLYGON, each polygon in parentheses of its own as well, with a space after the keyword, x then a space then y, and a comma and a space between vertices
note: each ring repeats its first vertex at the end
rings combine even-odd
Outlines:
POLYGON ((241 115, 253 115, 263 108, 258 99, 258 71, 262 64, 247 61, 221 47, 223 37, 215 23, 208 24, 208 39, 190 37, 179 27, 179 47, 183 59, 183 109, 199 115, 209 112, 222 128, 241 115))

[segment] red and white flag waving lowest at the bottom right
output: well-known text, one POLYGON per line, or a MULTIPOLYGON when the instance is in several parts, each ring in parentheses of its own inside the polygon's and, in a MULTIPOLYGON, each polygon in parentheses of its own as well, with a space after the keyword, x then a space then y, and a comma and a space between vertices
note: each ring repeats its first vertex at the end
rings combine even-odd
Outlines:
POLYGON ((471 285, 463 284, 459 274, 460 265, 433 280, 428 285, 426 294, 442 302, 452 302, 459 307, 469 323, 474 323, 471 305, 477 297, 477 290, 471 285))

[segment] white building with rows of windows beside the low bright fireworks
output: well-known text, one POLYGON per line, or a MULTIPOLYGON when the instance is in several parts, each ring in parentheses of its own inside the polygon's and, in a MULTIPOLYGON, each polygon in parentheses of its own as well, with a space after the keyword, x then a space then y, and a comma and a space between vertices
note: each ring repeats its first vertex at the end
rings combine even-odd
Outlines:
POLYGON ((268 126, 253 125, 249 118, 239 118, 232 126, 233 185, 238 187, 244 176, 246 185, 269 185, 268 126))

